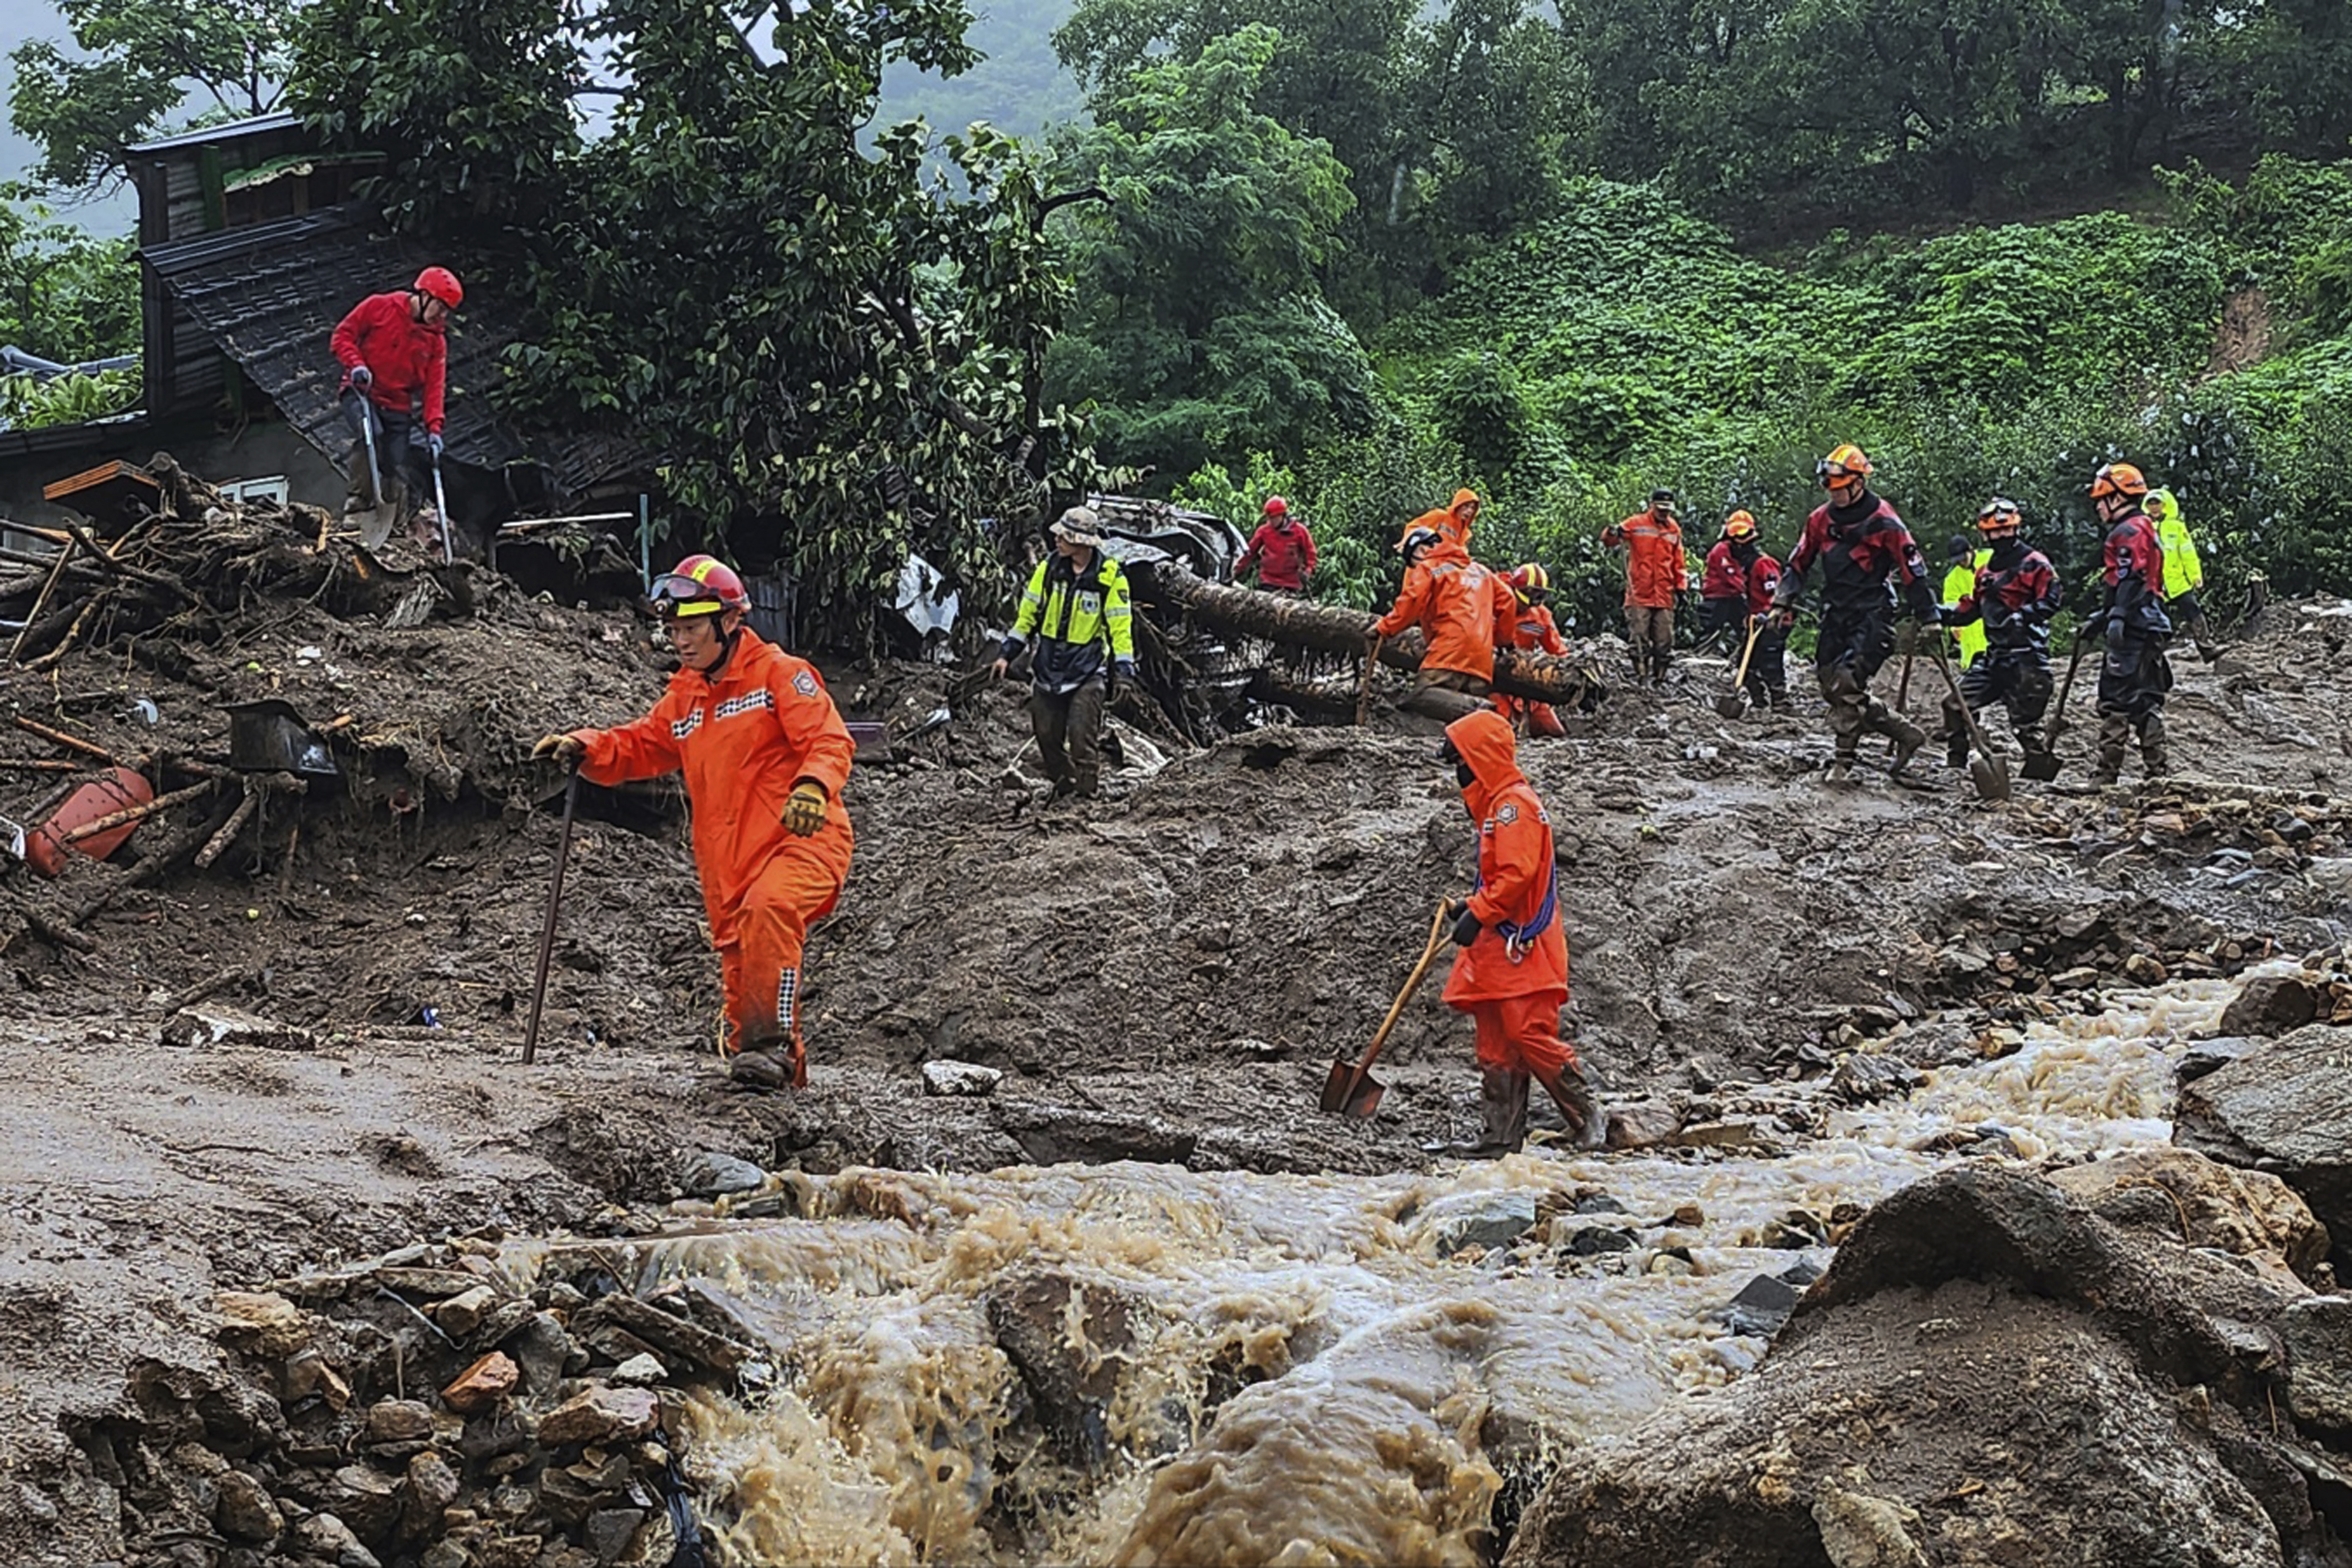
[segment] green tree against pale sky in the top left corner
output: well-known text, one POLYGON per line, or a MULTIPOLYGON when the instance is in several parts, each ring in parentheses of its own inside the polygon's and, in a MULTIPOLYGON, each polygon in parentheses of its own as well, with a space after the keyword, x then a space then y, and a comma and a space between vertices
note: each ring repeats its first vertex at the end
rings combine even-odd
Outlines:
POLYGON ((275 108, 299 0, 56 0, 68 54, 45 38, 9 54, 9 122, 40 148, 33 179, 80 190, 122 179, 125 148, 165 129, 191 92, 202 115, 275 108))

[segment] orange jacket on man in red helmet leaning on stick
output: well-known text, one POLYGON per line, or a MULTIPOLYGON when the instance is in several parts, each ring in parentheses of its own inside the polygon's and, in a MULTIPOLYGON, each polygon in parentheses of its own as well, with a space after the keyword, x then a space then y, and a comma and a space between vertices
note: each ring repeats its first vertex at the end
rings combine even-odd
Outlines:
POLYGON ((849 809, 842 788, 856 743, 826 682, 804 658, 793 658, 750 628, 736 632, 736 651, 717 679, 680 670, 654 710, 616 729, 572 731, 588 752, 581 776, 590 783, 626 783, 684 771, 694 806, 694 867, 703 877, 710 940, 736 940, 736 912, 767 865, 786 851, 811 856, 833 872, 833 898, 811 910, 826 914, 849 877, 849 809), (826 785, 826 825, 797 839, 783 825, 793 785, 814 778, 826 785))

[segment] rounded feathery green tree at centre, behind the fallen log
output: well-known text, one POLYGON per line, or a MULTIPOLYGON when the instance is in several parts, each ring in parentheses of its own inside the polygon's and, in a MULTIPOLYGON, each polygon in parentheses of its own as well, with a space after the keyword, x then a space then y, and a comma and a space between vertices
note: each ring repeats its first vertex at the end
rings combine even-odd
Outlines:
POLYGON ((1317 270, 1348 214, 1322 141, 1256 108, 1272 28, 1145 66, 1063 148, 1077 308, 1047 383, 1089 400, 1105 449, 1171 480, 1251 447, 1301 451, 1369 416, 1371 371, 1317 270))

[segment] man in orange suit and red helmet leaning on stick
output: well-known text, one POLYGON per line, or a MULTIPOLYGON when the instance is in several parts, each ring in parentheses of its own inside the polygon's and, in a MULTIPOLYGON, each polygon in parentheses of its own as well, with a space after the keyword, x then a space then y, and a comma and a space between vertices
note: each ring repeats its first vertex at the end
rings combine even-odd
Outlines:
POLYGON ((642 719, 548 736, 532 755, 576 762, 604 785, 687 776, 729 1077, 800 1088, 800 952, 849 877, 842 788, 856 745, 823 677, 743 625, 750 597, 731 569, 689 555, 654 578, 652 599, 680 658, 670 689, 642 719))

